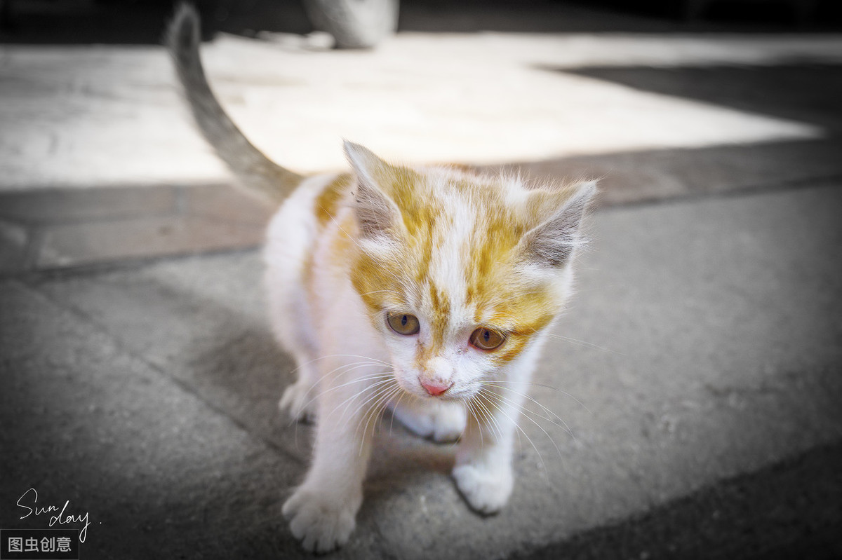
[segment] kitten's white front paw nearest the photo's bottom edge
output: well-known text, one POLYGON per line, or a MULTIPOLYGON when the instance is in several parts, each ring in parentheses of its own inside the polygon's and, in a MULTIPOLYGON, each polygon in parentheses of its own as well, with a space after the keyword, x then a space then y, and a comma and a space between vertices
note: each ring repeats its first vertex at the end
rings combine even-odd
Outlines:
POLYGON ((361 503, 362 496, 338 499, 302 486, 286 500, 282 511, 305 550, 330 552, 348 542, 361 503))

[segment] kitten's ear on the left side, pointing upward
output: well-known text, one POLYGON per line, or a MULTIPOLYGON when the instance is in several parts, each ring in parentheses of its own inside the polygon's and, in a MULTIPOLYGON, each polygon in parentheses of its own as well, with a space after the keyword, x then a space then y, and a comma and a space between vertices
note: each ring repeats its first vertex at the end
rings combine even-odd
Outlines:
POLYGON ((354 188, 354 213, 365 239, 393 241, 394 229, 400 223, 400 210, 378 186, 378 179, 391 175, 386 161, 367 148, 345 140, 345 156, 357 176, 354 188))

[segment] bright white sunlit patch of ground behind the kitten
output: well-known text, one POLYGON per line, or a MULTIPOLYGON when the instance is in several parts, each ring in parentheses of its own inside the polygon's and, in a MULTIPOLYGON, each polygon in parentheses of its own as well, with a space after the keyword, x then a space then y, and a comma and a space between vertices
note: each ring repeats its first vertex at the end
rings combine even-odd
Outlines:
MULTIPOLYGON (((284 165, 318 172, 344 166, 343 137, 400 161, 477 164, 819 138, 815 124, 568 71, 838 63, 842 39, 408 33, 349 52, 220 35, 204 52, 247 135, 284 165)), ((163 49, 6 45, 0 61, 0 188, 226 180, 163 49)))

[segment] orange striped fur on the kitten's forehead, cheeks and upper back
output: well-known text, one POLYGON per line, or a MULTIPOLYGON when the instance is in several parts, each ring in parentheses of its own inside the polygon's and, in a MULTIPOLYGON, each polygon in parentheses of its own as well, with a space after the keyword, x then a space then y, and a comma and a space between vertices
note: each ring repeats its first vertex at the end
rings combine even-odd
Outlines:
MULTIPOLYGON (((467 325, 504 333, 506 342, 491 360, 514 360, 551 323, 566 295, 559 286, 563 275, 530 269, 541 263, 524 254, 524 235, 563 208, 577 188, 526 188, 517 177, 447 167, 413 170, 373 155, 368 166, 365 172, 397 208, 397 220, 386 228, 395 245, 385 253, 360 250, 348 242, 360 236, 348 214, 333 256, 347 264, 374 326, 381 328, 386 310, 423 317, 429 341, 418 344, 420 368, 467 325)), ((353 204, 355 186, 347 174, 325 185, 313 209, 322 228, 353 204)))

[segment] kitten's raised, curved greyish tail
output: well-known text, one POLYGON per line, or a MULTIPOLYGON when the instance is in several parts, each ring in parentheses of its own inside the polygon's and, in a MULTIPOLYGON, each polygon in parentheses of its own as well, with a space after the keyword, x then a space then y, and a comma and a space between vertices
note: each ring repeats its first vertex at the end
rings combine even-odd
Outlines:
POLYGON ((280 203, 301 182, 295 172, 279 166, 249 142, 210 91, 199 55, 200 18, 196 8, 181 3, 165 36, 169 54, 184 87, 196 124, 216 154, 240 178, 242 186, 280 203))

